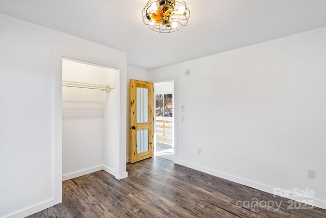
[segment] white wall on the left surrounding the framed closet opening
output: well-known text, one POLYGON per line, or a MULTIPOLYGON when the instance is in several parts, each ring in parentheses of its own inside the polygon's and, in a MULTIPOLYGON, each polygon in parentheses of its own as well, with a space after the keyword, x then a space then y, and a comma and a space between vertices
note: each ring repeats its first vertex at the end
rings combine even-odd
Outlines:
POLYGON ((61 148, 53 142, 51 48, 120 66, 120 150, 126 137, 126 53, 4 14, 0 26, 0 217, 23 217, 58 203, 54 160, 61 148))

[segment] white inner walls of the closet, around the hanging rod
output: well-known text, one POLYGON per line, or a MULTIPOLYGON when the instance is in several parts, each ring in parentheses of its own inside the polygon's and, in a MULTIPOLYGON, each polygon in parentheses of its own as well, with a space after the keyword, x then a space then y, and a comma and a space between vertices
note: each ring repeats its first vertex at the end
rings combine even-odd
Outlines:
MULTIPOLYGON (((86 63, 63 60, 62 68, 62 80, 66 81, 108 85, 116 79, 116 70, 86 63)), ((116 99, 116 93, 74 87, 62 89, 62 174, 63 180, 67 180, 103 169, 104 136, 117 138, 117 130, 104 131, 104 121, 112 122, 104 119, 104 112, 107 107, 116 107, 115 101, 108 104, 109 98, 116 99)))

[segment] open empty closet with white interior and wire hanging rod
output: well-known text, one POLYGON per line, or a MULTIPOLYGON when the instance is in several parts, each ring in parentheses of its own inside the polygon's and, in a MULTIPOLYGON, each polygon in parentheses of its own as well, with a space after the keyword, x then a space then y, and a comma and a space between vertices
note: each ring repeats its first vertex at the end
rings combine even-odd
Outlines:
POLYGON ((119 150, 119 70, 62 60, 62 180, 110 172, 119 150))

